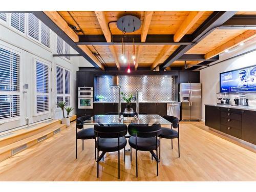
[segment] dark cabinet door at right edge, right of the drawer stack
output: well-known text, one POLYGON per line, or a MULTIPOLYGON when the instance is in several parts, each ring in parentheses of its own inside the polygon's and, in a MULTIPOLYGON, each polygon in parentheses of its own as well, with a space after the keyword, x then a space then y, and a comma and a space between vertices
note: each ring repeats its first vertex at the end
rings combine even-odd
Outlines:
POLYGON ((256 112, 242 111, 242 140, 256 144, 256 112))

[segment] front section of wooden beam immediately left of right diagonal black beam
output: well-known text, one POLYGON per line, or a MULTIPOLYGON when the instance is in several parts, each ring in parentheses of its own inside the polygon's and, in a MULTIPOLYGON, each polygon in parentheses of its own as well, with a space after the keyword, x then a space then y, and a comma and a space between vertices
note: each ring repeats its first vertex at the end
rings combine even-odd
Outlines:
POLYGON ((195 25, 198 19, 204 14, 205 11, 190 11, 184 22, 174 35, 174 41, 178 42, 180 39, 195 25))

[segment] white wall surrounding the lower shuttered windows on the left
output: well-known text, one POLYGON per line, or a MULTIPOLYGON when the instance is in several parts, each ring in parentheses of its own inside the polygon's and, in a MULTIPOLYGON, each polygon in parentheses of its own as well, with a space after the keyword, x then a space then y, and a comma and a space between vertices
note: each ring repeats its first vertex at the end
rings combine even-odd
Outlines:
MULTIPOLYGON (((27 116, 29 117, 29 122, 33 123, 39 120, 44 120, 49 117, 61 118, 62 113, 60 110, 56 109, 56 65, 69 69, 71 71, 71 83, 70 83, 70 105, 74 106, 75 110, 71 115, 76 114, 76 71, 78 71, 78 66, 92 67, 92 65, 82 57, 70 57, 70 60, 62 57, 53 57, 56 50, 56 34, 51 31, 51 48, 47 48, 34 41, 33 39, 27 37, 25 34, 12 29, 7 26, 6 23, 0 22, 0 46, 3 48, 9 48, 20 53, 20 88, 23 91, 24 83, 29 84, 29 89, 27 94, 21 95, 21 108, 20 108, 20 118, 25 118, 25 111, 27 106, 27 116), (50 96, 50 104, 53 109, 52 114, 35 116, 35 59, 45 61, 49 63, 52 68, 50 75, 51 78, 51 88, 53 89, 50 96), (81 64, 79 64, 81 63, 81 64), (27 99, 27 105, 25 100, 27 99)), ((71 54, 77 54, 75 50, 70 48, 71 54)), ((10 120, 11 121, 11 120, 10 120)), ((10 122, 8 119, 5 120, 5 124, 0 125, 0 132, 3 130, 10 129, 10 127, 16 127, 18 125, 24 125, 24 120, 16 120, 10 122)), ((0 123, 1 124, 1 123, 0 123)))

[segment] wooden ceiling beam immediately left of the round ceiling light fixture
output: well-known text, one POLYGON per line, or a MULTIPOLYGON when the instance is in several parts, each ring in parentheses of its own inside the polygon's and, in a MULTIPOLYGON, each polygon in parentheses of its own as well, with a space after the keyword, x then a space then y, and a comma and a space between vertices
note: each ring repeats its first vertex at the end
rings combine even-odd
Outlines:
MULTIPOLYGON (((106 42, 111 42, 112 35, 111 35, 111 31, 109 29, 108 22, 106 20, 106 16, 105 16, 104 11, 94 11, 94 12, 95 12, 96 17, 98 19, 101 30, 102 30, 102 32, 105 36, 106 42)), ((113 45, 110 45, 109 49, 110 49, 110 52, 111 52, 112 56, 114 57, 117 69, 121 70, 118 55, 116 53, 115 47, 113 45)))

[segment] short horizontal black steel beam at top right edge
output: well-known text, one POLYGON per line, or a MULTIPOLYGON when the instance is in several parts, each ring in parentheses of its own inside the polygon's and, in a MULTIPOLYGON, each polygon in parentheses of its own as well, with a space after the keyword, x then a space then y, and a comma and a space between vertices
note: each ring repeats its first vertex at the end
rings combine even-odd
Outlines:
POLYGON ((256 15, 234 15, 219 29, 256 29, 256 15))

